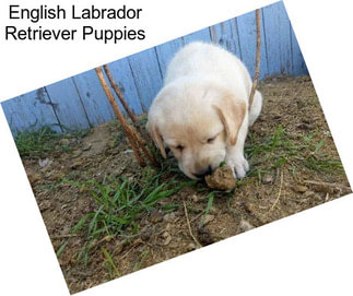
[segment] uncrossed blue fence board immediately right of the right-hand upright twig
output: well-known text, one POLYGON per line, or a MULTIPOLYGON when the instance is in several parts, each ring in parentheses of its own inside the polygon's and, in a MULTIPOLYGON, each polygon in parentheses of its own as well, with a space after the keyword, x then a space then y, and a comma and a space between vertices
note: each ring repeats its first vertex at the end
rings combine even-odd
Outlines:
POLYGON ((263 11, 268 71, 292 74, 291 25, 283 2, 268 5, 263 11))

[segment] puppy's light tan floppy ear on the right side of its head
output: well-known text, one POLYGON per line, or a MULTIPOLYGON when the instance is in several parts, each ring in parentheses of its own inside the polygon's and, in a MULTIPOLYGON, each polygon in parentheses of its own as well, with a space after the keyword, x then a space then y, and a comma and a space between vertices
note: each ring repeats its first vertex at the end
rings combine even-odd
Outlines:
POLYGON ((221 118, 230 144, 235 145, 238 131, 245 118, 246 104, 227 95, 223 96, 213 107, 221 118))

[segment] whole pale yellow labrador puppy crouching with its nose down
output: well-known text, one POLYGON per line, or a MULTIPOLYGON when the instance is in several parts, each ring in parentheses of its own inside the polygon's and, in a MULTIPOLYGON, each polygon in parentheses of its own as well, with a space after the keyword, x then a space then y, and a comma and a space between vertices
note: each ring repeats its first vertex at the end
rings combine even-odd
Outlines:
POLYGON ((162 155, 169 147, 191 179, 211 174, 224 161, 235 177, 245 177, 249 165, 244 142, 262 106, 257 91, 249 110, 251 85, 243 62, 225 49, 204 43, 180 49, 146 123, 162 155))

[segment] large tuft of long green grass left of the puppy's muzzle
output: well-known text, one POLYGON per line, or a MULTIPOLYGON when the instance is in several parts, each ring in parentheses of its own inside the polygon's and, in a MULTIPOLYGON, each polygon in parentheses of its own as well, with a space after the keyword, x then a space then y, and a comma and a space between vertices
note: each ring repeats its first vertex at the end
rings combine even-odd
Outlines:
MULTIPOLYGON (((85 214, 71 229, 74 235, 83 232, 87 241, 79 254, 79 259, 89 262, 89 253, 97 246, 97 241, 115 236, 131 237, 139 232, 139 218, 146 215, 158 202, 173 196, 195 181, 163 180, 166 168, 162 171, 145 168, 144 178, 139 181, 126 177, 117 179, 106 178, 99 182, 94 179, 86 181, 66 180, 77 188, 90 188, 91 197, 96 210, 85 214)), ((179 204, 164 204, 165 212, 179 208, 179 204)), ((59 248, 59 257, 66 248, 67 241, 59 248)))

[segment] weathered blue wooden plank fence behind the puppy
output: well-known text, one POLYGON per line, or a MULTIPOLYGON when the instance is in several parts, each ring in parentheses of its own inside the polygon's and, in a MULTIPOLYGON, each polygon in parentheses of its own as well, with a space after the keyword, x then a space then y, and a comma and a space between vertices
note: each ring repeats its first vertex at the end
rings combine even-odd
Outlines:
MULTIPOLYGON (((301 49, 282 2, 261 9, 261 75, 307 74, 301 49)), ((162 86, 166 64, 184 45, 212 42, 238 56, 255 71, 255 12, 212 25, 108 64, 134 113, 146 111, 162 86)), ((118 100, 118 99, 117 99, 118 100)), ((50 126, 59 132, 87 129, 114 119, 94 70, 3 102, 13 134, 50 126)))

